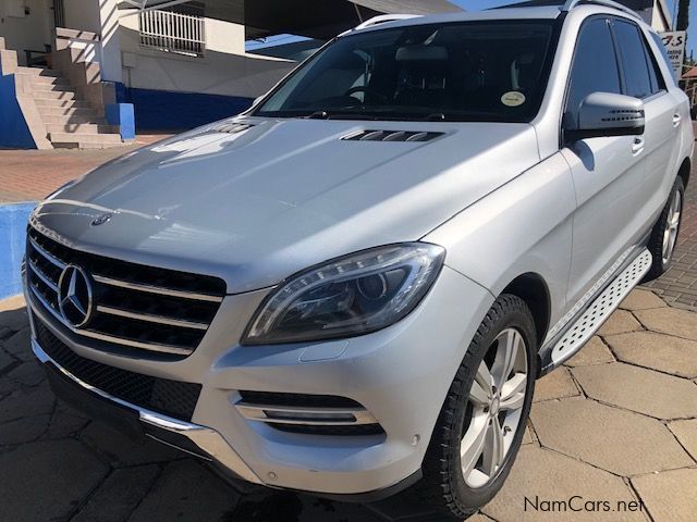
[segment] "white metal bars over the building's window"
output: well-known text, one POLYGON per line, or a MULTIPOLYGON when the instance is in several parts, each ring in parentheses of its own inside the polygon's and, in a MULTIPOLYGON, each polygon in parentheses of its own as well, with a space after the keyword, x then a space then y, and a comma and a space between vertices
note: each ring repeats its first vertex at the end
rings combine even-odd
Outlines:
POLYGON ((205 20, 170 11, 143 11, 139 14, 140 47, 203 57, 206 50, 205 20))

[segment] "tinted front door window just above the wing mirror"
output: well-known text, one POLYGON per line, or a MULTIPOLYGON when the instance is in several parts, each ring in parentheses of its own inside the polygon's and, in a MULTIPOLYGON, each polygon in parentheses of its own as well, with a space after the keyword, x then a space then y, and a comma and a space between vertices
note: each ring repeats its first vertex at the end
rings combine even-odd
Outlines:
POLYGON ((570 77, 566 111, 573 113, 591 92, 622 92, 617 59, 606 18, 592 18, 582 26, 570 77))

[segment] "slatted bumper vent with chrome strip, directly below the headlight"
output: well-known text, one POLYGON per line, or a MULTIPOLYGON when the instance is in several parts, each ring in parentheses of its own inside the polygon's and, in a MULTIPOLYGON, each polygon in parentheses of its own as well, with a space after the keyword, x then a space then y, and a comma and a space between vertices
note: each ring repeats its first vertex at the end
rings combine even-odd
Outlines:
POLYGON ((384 435, 382 426, 359 403, 333 395, 241 390, 237 411, 247 420, 304 435, 384 435))

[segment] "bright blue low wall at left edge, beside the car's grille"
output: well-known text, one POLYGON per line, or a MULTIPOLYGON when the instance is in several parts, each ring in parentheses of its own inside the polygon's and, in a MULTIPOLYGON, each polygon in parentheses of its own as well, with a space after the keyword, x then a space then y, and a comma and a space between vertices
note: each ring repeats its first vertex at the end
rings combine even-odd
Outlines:
POLYGON ((0 204, 0 299, 22 291, 26 223, 35 202, 0 204))

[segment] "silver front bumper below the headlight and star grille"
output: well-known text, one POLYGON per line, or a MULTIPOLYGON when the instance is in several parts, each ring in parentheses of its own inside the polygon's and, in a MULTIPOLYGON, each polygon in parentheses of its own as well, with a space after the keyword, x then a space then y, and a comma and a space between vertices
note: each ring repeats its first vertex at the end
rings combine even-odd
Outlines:
POLYGON ((119 357, 68 338, 27 296, 41 321, 83 358, 140 374, 200 383, 191 422, 143 409, 71 375, 35 338, 36 356, 63 378, 135 415, 146 435, 269 487, 338 498, 375 498, 418 478, 442 401, 493 297, 444 268, 424 302, 400 323, 351 339, 245 347, 244 327, 266 291, 228 296, 198 349, 176 362, 119 357), (285 433, 245 418, 241 390, 318 394, 363 405, 384 434, 285 433))

